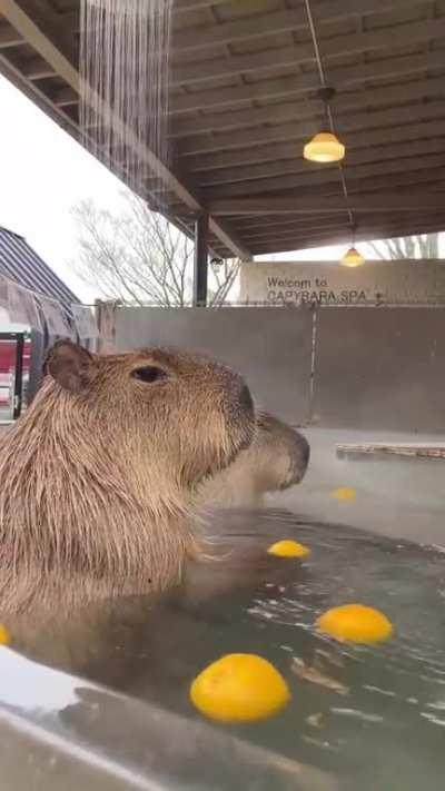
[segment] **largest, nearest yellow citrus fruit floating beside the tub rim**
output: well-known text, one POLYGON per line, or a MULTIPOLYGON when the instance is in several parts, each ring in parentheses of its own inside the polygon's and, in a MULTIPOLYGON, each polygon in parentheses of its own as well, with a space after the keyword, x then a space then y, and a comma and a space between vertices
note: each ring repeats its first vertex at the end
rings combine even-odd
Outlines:
POLYGON ((290 700, 281 674, 256 654, 227 654, 206 668, 190 686, 194 705, 220 722, 273 716, 290 700))

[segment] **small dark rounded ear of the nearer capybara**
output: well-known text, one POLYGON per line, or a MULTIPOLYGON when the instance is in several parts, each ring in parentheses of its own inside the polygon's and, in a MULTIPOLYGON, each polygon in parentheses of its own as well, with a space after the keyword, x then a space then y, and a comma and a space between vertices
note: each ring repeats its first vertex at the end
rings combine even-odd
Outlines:
POLYGON ((91 379, 93 357, 90 353, 73 344, 72 340, 58 340, 47 354, 43 375, 52 378, 66 390, 80 393, 91 379))

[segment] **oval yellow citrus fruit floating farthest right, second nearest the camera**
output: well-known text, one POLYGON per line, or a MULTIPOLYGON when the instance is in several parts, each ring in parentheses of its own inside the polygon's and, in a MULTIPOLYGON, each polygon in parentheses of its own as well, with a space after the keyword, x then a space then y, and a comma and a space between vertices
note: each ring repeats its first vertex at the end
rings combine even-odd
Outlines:
POLYGON ((352 643, 378 643, 393 633, 386 615, 363 604, 333 607, 317 619, 316 625, 320 632, 352 643))

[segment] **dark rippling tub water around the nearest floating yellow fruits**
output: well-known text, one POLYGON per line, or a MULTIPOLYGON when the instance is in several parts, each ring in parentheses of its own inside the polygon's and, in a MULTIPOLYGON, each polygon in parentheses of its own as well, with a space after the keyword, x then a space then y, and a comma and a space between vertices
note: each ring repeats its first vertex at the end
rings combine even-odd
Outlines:
POLYGON ((92 642, 81 673, 199 718, 188 701, 192 678, 221 654, 259 653, 287 678, 293 702, 268 722, 229 731, 330 772, 345 791, 441 789, 444 555, 291 516, 274 517, 268 530, 307 544, 309 561, 277 560, 266 583, 230 597, 127 603, 92 642), (379 646, 346 647, 318 635, 316 616, 350 601, 385 612, 395 636, 379 646), (318 663, 347 694, 294 675, 294 656, 318 663))

